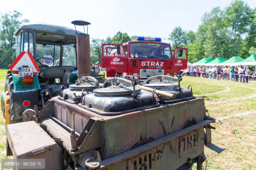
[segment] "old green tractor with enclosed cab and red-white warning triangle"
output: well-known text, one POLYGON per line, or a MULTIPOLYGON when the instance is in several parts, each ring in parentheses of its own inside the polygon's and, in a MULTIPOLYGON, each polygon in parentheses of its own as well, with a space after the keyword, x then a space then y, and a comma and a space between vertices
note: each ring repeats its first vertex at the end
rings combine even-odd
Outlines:
MULTIPOLYGON (((17 30, 16 59, 10 65, 5 91, 1 93, 5 126, 22 122, 24 110, 33 109, 34 105, 40 110, 48 99, 60 94, 62 85, 74 84, 77 75, 91 74, 90 48, 77 50, 75 36, 80 34, 84 35, 49 24, 24 24, 17 30), (77 62, 78 55, 83 56, 77 62), (80 67, 78 73, 77 63, 87 64, 88 68, 80 67)), ((84 42, 80 45, 90 46, 89 38, 84 42)), ((95 76, 104 81, 104 76, 95 76)))

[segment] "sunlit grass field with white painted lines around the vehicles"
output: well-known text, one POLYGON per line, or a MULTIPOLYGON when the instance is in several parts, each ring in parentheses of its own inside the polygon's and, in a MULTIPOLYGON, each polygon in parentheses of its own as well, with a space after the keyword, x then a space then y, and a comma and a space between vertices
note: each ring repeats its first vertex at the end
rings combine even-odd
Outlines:
MULTIPOLYGON (((7 70, 0 70, 0 90, 4 90, 7 70)), ((103 74, 103 72, 100 72, 103 74)), ((207 169, 256 169, 256 81, 239 83, 200 77, 182 77, 181 87, 192 85, 193 94, 203 97, 209 115, 222 117, 222 125, 212 124, 212 143, 224 147, 218 154, 205 147, 207 169), (239 114, 242 113, 242 114, 239 114)), ((0 158, 6 158, 6 137, 0 116, 0 158)), ((11 157, 8 157, 11 158, 11 157)), ((205 163, 203 164, 205 166, 205 163)), ((196 169, 196 165, 193 166, 196 169)))

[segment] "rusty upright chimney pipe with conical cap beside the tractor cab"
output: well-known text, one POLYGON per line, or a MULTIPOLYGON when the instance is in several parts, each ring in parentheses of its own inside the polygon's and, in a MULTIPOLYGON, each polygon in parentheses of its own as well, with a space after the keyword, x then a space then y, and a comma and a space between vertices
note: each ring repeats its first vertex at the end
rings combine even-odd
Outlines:
POLYGON ((88 35, 88 25, 91 23, 82 19, 71 22, 74 25, 87 25, 87 34, 77 34, 76 28, 76 48, 77 48, 77 72, 78 76, 83 74, 91 74, 90 59, 90 35, 88 35))

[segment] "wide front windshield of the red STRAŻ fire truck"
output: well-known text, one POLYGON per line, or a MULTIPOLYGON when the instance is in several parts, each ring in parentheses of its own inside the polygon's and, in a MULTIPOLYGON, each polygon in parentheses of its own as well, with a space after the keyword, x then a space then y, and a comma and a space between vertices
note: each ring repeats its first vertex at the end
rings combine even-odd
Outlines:
POLYGON ((171 59, 171 50, 169 44, 132 42, 129 46, 129 55, 138 54, 139 58, 161 58, 171 59))

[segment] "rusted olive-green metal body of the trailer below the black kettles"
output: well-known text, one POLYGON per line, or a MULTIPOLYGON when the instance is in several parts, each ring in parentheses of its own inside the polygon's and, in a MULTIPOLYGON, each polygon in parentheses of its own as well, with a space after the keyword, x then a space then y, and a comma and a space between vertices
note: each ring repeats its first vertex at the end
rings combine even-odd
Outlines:
MULTIPOLYGON (((59 100, 57 97, 53 98, 53 108, 54 117, 71 129, 75 129, 77 133, 85 134, 85 130, 88 130, 88 135, 78 137, 79 149, 71 154, 79 155, 79 153, 96 149, 101 160, 107 161, 113 156, 118 157, 121 153, 133 150, 129 158, 112 162, 115 166, 110 166, 110 160, 104 161, 103 163, 109 169, 125 169, 127 166, 132 168, 135 164, 139 169, 144 163, 147 167, 156 169, 166 167, 176 169, 186 163, 189 157, 195 158, 203 153, 203 126, 214 122, 214 120, 204 122, 203 98, 114 116, 100 115, 76 104, 59 100), (90 123, 91 121, 94 123, 90 123), (193 125, 192 130, 182 131, 193 125), (194 130, 197 130, 196 134, 199 137, 194 134, 194 130), (171 138, 168 141, 162 139, 174 133, 178 133, 174 139, 171 138), (182 141, 185 137, 189 137, 189 141, 182 141), (158 139, 162 139, 161 143, 154 145, 152 142, 158 139), (196 139, 199 140, 195 141, 196 139), (195 146, 193 145, 188 151, 182 151, 191 141, 195 141, 195 146), (182 142, 184 145, 181 145, 182 142), (144 144, 150 144, 150 147, 147 148, 144 144), (155 155, 158 158, 153 161, 155 155), (144 157, 148 161, 139 163, 141 159, 144 160, 144 157)), ((100 169, 104 169, 105 166, 100 166, 100 169)))

